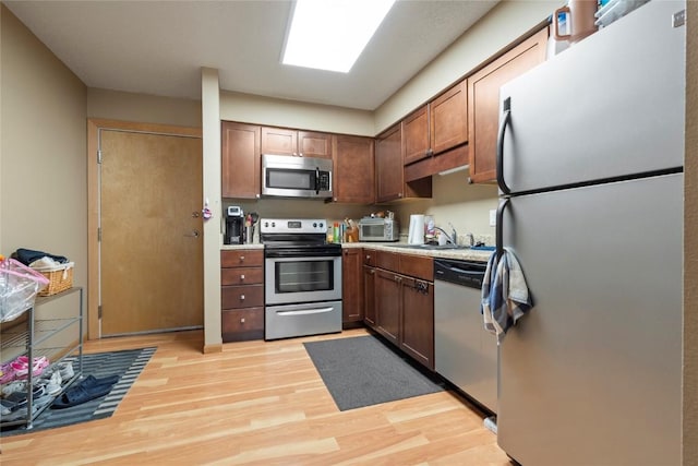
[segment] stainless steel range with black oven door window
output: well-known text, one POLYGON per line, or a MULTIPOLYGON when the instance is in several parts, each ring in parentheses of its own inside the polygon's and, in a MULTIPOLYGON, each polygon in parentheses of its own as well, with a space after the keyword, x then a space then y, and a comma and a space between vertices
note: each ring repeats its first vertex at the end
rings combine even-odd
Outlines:
POLYGON ((260 220, 265 339, 341 332, 341 246, 325 219, 260 220))

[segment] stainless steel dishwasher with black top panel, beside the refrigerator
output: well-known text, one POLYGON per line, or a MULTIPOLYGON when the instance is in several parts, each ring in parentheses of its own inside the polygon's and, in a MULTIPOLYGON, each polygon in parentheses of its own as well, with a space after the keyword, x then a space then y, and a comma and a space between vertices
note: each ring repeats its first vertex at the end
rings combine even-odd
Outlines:
POLYGON ((486 264, 434 259, 436 372, 492 413, 497 411, 496 337, 480 313, 486 264))

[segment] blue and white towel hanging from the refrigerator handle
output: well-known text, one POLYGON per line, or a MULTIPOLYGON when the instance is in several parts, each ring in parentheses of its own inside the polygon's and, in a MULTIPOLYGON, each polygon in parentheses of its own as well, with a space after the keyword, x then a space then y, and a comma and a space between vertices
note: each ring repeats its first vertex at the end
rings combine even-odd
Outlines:
POLYGON ((496 252, 488 261, 482 282, 480 311, 484 327, 502 343, 510 326, 533 306, 519 261, 508 248, 504 248, 497 261, 496 252))

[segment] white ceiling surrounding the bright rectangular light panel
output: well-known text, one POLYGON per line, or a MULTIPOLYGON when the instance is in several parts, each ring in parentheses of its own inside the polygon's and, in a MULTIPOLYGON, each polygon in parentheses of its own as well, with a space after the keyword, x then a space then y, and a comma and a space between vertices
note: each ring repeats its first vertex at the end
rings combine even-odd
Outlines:
POLYGON ((290 0, 3 3, 89 87, 198 99, 209 67, 226 91, 373 110, 497 1, 398 0, 348 74, 280 64, 290 0))

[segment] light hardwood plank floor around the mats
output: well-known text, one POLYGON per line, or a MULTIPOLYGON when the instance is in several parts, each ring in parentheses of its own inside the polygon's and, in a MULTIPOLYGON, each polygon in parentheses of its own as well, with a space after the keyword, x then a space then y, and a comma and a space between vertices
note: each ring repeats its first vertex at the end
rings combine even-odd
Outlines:
POLYGON ((157 346, 115 415, 0 439, 11 465, 510 465, 483 415, 450 392, 339 411, 303 342, 224 345, 201 332, 87 342, 157 346))

